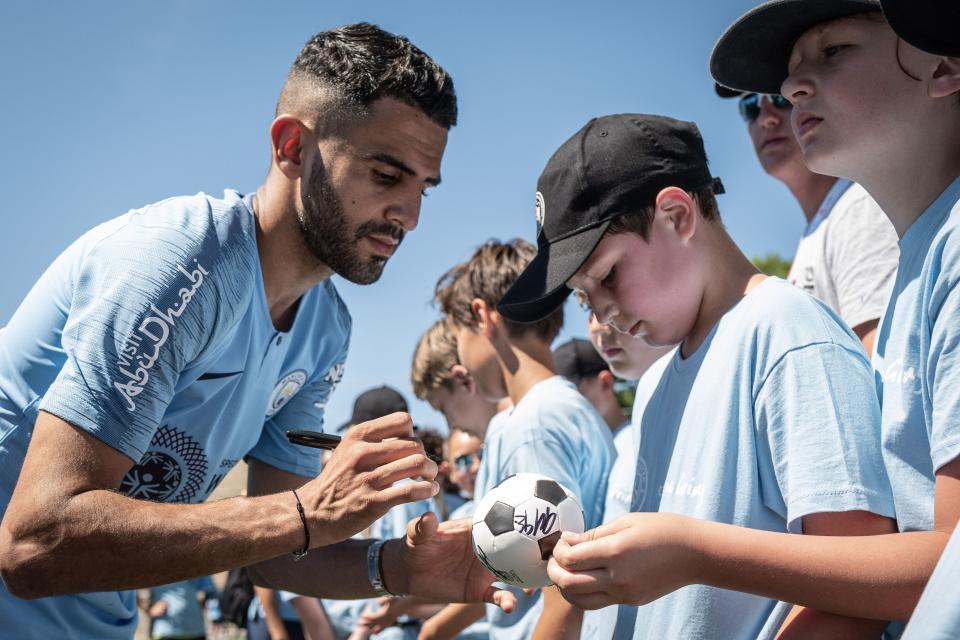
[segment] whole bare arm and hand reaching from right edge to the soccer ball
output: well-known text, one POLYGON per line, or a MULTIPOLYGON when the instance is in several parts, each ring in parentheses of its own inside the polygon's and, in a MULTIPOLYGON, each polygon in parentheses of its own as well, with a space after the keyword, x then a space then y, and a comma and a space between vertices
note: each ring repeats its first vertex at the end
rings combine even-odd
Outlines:
POLYGON ((839 615, 906 620, 958 514, 960 459, 937 472, 933 531, 800 536, 631 513, 585 534, 564 534, 548 571, 564 597, 585 609, 646 604, 705 584, 839 615))

